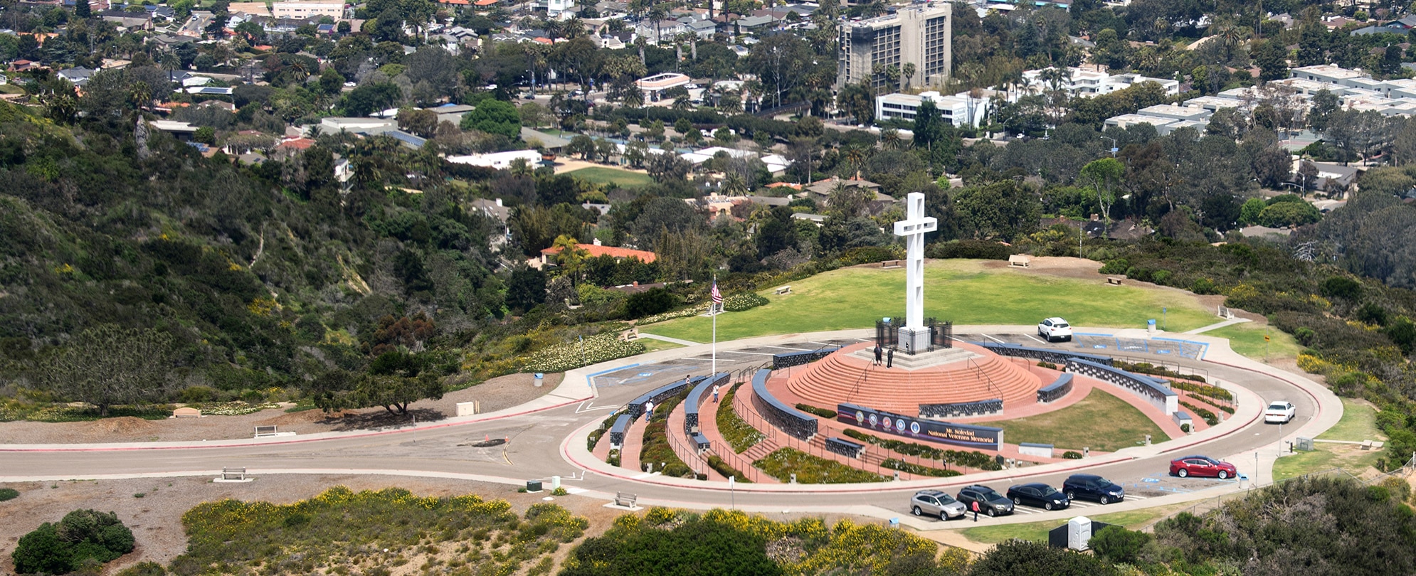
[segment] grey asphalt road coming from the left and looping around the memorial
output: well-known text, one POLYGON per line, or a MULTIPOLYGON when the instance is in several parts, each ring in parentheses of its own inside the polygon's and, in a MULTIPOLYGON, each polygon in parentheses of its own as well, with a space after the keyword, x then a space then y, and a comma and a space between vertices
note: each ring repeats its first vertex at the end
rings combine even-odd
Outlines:
MULTIPOLYGON (((959 334, 960 340, 983 341, 1000 340, 1015 341, 1028 345, 1044 345, 1029 335, 1003 334, 959 334)), ((777 347, 742 348, 735 351, 719 351, 719 371, 742 371, 760 367, 770 361, 772 354, 792 350, 814 350, 831 342, 793 342, 777 347)), ((1058 347, 1069 347, 1059 344, 1058 347)), ((1076 344, 1070 344, 1075 350, 1076 344)), ((1211 362, 1198 362, 1174 357, 1154 357, 1146 354, 1127 354, 1138 359, 1165 361, 1170 365, 1185 365, 1208 371, 1211 378, 1221 378, 1235 382, 1256 392, 1264 402, 1272 399, 1287 399, 1297 406, 1298 417, 1294 425, 1301 425, 1310 419, 1315 410, 1315 401, 1300 388, 1270 375, 1249 369, 1223 367, 1211 362)), ((636 481, 632 478, 606 477, 598 473, 585 473, 562 456, 562 443, 569 434, 582 426, 605 419, 613 408, 629 402, 634 396, 654 386, 681 379, 687 374, 708 374, 711 359, 708 355, 694 355, 673 361, 661 361, 651 365, 634 365, 624 369, 599 375, 595 378, 599 388, 599 398, 572 406, 562 406, 531 415, 507 417, 490 422, 477 422, 438 429, 405 430, 398 433, 365 434, 353 437, 319 439, 290 443, 253 444, 238 447, 190 447, 190 449, 126 449, 126 450, 96 450, 96 451, 11 451, 0 456, 4 468, 10 474, 42 476, 42 477, 85 477, 93 474, 173 474, 217 470, 221 467, 246 467, 252 470, 329 470, 329 471, 389 471, 404 474, 476 474, 489 480, 532 480, 561 476, 565 485, 582 488, 602 494, 616 491, 630 491, 639 494, 641 501, 653 501, 667 505, 692 507, 759 507, 776 509, 803 509, 833 505, 877 505, 885 509, 909 512, 909 495, 916 487, 892 488, 889 483, 869 485, 858 493, 830 493, 813 494, 811 487, 803 485, 800 493, 753 493, 750 487, 745 490, 726 491, 722 485, 718 490, 702 490, 688 487, 674 487, 656 483, 636 481), (477 447, 486 439, 507 439, 503 446, 477 447), (583 474, 583 476, 582 476, 583 474)), ((1104 423, 1096 423, 1104 426, 1104 423)), ((1293 427, 1289 427, 1293 432, 1293 427)), ((1256 447, 1272 446, 1276 451, 1279 443, 1279 427, 1262 423, 1245 426, 1225 437, 1205 443, 1202 447, 1178 449, 1171 453, 1160 453, 1150 457, 1104 464, 1087 470, 1087 473, 1102 474, 1123 484, 1127 494, 1146 498, 1204 490, 1221 484, 1216 480, 1201 478, 1171 478, 1167 476, 1168 461, 1174 457, 1191 453, 1228 459, 1232 454, 1252 451, 1256 447)), ((1235 461, 1240 473, 1253 474, 1255 463, 1235 461)), ((986 483, 1000 493, 1005 493, 1008 485, 1027 481, 1042 481, 1051 485, 1061 485, 1070 473, 1052 473, 1028 476, 1027 468, 1017 470, 1017 476, 986 483)), ((633 474, 626 471, 626 474, 633 474)), ((1260 478, 1262 480, 1262 478, 1260 478)), ((1233 481, 1229 481, 1233 483, 1233 481)), ((969 481, 956 478, 940 478, 939 485, 957 493, 957 488, 969 481)), ((258 484, 253 484, 258 487, 258 484)), ((1095 502, 1079 502, 1076 508, 1090 508, 1095 502)), ((1032 509, 1020 507, 1020 514, 1034 514, 1032 509)), ((1069 512, 1056 512, 1069 514, 1069 512)))

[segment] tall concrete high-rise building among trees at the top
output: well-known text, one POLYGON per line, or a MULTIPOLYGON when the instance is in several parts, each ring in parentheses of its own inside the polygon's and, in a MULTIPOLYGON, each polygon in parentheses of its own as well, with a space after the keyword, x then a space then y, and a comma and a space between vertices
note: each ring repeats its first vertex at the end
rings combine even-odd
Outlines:
POLYGON ((895 86, 885 71, 895 65, 906 86, 932 86, 949 79, 953 23, 946 1, 899 8, 895 14, 841 24, 841 57, 835 88, 869 78, 877 91, 895 86), (915 75, 905 78, 905 64, 915 75))

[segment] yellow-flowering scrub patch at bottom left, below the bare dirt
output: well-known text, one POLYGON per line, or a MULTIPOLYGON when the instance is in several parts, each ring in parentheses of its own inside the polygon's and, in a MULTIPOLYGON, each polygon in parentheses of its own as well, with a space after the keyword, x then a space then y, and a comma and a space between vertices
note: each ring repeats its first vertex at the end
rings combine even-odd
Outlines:
POLYGON ((174 573, 367 573, 443 562, 439 546, 460 545, 449 566, 513 575, 524 563, 544 565, 537 559, 581 538, 589 521, 549 502, 532 505, 523 519, 503 500, 340 485, 292 504, 201 504, 183 515, 183 526, 188 546, 173 560, 174 573))

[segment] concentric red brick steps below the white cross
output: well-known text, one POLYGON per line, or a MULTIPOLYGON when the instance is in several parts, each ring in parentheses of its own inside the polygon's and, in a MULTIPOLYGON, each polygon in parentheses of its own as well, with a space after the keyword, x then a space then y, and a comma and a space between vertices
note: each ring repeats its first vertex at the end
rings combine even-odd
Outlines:
POLYGON ((997 355, 916 371, 886 369, 837 352, 787 381, 787 389, 821 408, 850 402, 878 410, 918 415, 922 403, 1003 398, 1031 403, 1042 382, 1028 369, 997 355))

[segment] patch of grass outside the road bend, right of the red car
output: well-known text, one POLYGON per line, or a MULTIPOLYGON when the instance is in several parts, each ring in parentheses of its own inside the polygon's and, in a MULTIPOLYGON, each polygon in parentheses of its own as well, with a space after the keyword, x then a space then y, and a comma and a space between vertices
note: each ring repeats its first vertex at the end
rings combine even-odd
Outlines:
MULTIPOLYGON (((1386 440, 1376 429, 1376 409, 1366 402, 1342 399, 1342 419, 1335 426, 1318 434, 1320 440, 1386 440)), ((1330 468, 1342 468, 1352 474, 1362 474, 1376 464, 1382 456, 1381 450, 1362 450, 1357 444, 1328 444, 1315 443, 1313 451, 1303 451, 1284 456, 1273 464, 1276 480, 1291 478, 1294 476, 1311 474, 1330 468)))

